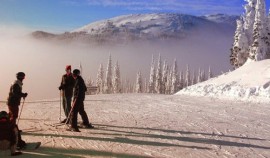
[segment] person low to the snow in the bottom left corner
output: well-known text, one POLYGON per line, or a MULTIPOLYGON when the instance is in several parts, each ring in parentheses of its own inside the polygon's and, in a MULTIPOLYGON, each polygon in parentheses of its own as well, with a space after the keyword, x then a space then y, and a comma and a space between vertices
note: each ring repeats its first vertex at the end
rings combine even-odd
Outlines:
POLYGON ((0 112, 0 150, 10 149, 11 156, 21 155, 22 152, 16 151, 18 129, 15 127, 6 111, 0 112))

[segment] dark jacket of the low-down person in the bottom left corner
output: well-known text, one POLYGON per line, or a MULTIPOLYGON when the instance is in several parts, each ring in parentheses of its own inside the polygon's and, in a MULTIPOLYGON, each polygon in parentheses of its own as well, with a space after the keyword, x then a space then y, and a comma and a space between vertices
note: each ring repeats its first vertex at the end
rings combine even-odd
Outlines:
POLYGON ((7 140, 11 145, 16 143, 15 126, 8 119, 0 120, 0 140, 7 140))

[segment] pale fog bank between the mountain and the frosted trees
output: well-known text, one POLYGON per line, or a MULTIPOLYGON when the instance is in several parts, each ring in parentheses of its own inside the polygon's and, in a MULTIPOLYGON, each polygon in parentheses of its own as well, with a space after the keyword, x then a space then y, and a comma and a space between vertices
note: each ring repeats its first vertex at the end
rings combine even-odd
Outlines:
POLYGON ((15 74, 26 73, 23 91, 29 93, 27 100, 58 98, 58 86, 65 66, 83 67, 85 81, 89 77, 96 80, 97 70, 102 63, 107 67, 109 54, 113 65, 119 62, 123 80, 135 81, 137 71, 142 71, 143 78, 149 79, 152 54, 157 59, 172 65, 174 58, 178 61, 179 71, 185 71, 190 65, 191 73, 201 67, 208 71, 211 66, 214 74, 230 69, 229 48, 232 44, 229 36, 216 38, 215 35, 200 35, 182 41, 137 42, 117 46, 90 46, 78 43, 45 42, 33 39, 33 30, 0 27, 0 100, 6 100, 15 74), (209 42, 214 41, 214 42, 209 42))

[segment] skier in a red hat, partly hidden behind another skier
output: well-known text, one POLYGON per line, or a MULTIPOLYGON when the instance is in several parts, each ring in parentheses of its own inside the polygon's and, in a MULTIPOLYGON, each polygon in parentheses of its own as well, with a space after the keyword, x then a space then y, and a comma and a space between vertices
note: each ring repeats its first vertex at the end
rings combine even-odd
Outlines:
POLYGON ((58 88, 59 90, 62 90, 62 98, 63 98, 62 104, 63 104, 65 116, 66 116, 66 118, 63 121, 61 121, 61 123, 65 123, 67 121, 68 114, 71 109, 71 99, 73 95, 74 83, 75 83, 75 80, 72 77, 71 65, 67 65, 66 74, 62 76, 61 84, 58 88))

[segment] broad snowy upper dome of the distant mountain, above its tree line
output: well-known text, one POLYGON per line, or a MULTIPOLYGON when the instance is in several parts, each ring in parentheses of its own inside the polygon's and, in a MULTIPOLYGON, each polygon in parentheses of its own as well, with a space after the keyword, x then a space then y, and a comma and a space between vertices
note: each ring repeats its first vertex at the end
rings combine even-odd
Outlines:
POLYGON ((168 35, 180 36, 180 32, 192 27, 211 24, 203 18, 183 14, 132 14, 98 21, 73 32, 86 32, 88 34, 102 34, 112 32, 126 33, 142 36, 168 35), (177 33, 179 33, 177 35, 177 33))

